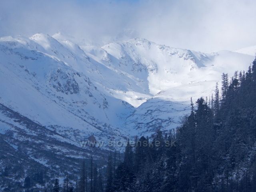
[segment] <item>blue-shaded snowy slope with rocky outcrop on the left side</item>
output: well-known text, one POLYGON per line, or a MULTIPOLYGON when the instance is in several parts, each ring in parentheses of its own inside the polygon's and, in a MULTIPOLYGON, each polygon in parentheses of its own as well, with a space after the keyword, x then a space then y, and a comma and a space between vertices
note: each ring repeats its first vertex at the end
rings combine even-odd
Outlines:
POLYGON ((91 134, 102 137, 102 132, 106 132, 105 140, 110 138, 109 133, 123 138, 112 124, 118 123, 132 107, 97 90, 90 78, 74 70, 72 62, 66 62, 77 56, 60 60, 64 54, 58 50, 58 58, 55 49, 62 46, 56 40, 53 43, 54 47, 45 53, 42 46, 29 39, 1 38, 0 56, 4 59, 0 102, 44 126, 80 130, 83 134, 76 136, 76 140, 91 134))

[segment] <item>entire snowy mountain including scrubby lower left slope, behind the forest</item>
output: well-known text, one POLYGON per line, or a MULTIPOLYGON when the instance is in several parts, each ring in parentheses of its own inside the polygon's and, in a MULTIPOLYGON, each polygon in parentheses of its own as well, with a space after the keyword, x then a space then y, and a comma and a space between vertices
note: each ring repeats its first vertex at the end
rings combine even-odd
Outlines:
MULTIPOLYGON (((0 58, 1 168, 13 167, 15 154, 26 161, 20 176, 32 172, 30 163, 49 176, 77 167, 92 151, 102 159, 109 146, 81 146, 92 135, 106 144, 176 128, 191 96, 211 96, 222 72, 246 70, 254 57, 136 38, 79 46, 60 34, 35 34, 0 38, 0 58), (66 163, 58 165, 56 154, 66 163)), ((8 174, 22 182, 15 169, 8 174)))

